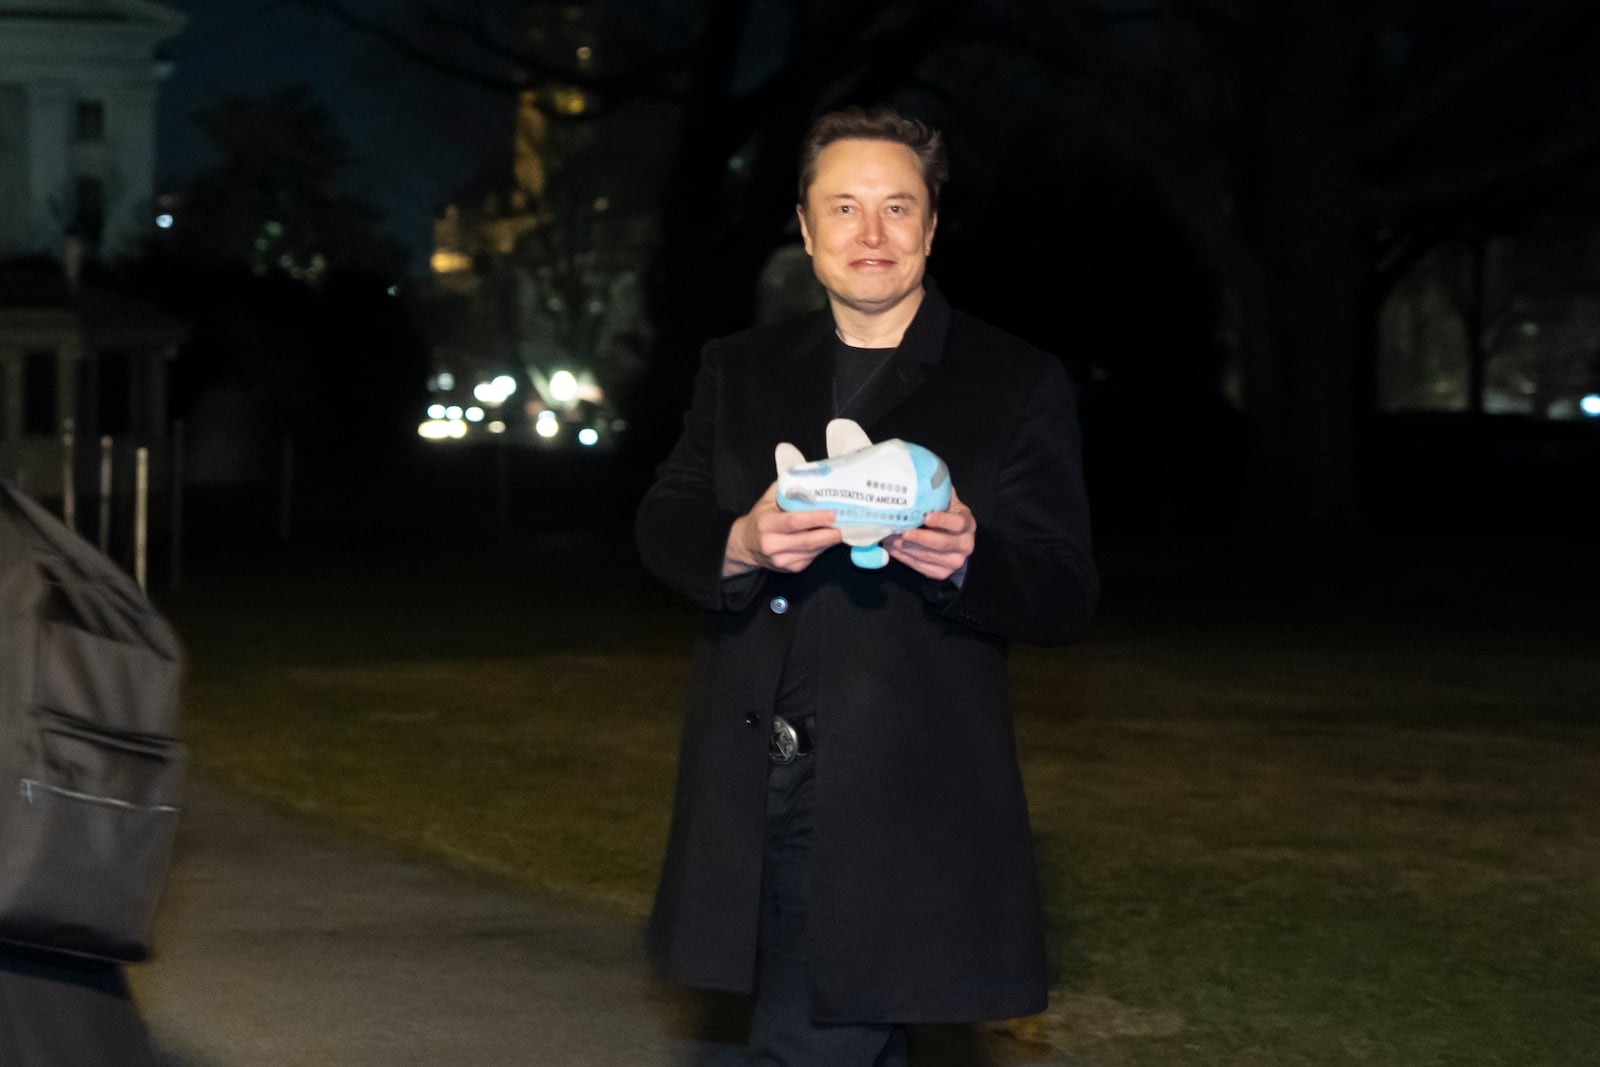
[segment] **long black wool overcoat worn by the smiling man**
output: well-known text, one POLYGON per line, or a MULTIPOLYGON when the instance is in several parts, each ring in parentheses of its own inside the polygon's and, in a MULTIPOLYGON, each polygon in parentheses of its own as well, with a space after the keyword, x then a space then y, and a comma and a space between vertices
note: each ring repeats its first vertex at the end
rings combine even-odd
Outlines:
POLYGON ((683 435, 637 515, 645 565, 704 611, 651 952, 680 982, 755 973, 766 737, 795 627, 821 627, 810 961, 821 1022, 1032 1014, 1046 977, 1006 641, 1056 643, 1096 595, 1072 387, 1059 360, 930 285, 856 419, 944 458, 978 522, 965 581, 824 552, 722 579, 773 446, 826 454, 829 312, 706 346, 683 435))

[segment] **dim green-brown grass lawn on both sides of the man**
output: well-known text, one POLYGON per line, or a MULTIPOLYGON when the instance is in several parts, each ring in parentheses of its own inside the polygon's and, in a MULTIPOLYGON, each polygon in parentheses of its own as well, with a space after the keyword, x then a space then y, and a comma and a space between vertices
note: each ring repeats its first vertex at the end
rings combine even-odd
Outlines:
MULTIPOLYGON (((200 773, 642 917, 693 616, 600 558, 163 597, 200 773)), ((1094 1067, 1600 1062, 1600 633, 1450 574, 1112 584, 1083 643, 1016 651, 1056 960, 1016 1033, 1094 1067)))

